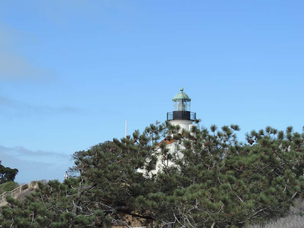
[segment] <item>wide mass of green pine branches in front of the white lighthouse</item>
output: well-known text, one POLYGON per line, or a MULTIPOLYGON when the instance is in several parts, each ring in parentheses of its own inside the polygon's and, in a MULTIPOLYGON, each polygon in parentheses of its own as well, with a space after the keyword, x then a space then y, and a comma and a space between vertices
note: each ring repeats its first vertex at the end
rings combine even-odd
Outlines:
POLYGON ((283 214, 302 194, 304 133, 268 126, 242 143, 237 125, 208 130, 196 122, 190 131, 157 122, 76 152, 78 178, 40 183, 23 203, 8 199, 0 225, 129 226, 136 218, 163 227, 243 227, 283 214))

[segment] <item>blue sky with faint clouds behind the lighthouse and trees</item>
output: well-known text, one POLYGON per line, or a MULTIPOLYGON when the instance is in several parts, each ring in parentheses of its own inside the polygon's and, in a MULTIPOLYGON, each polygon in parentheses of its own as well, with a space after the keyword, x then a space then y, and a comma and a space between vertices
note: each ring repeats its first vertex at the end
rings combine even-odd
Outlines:
POLYGON ((304 125, 303 1, 2 1, 0 160, 63 179, 69 155, 191 110, 238 134, 304 125))

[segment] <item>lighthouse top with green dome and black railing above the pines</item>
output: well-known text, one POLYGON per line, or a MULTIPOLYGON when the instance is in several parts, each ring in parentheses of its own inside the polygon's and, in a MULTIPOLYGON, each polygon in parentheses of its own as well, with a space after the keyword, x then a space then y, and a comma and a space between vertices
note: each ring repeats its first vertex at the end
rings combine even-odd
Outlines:
POLYGON ((167 120, 172 125, 179 125, 185 130, 189 130, 196 118, 196 112, 190 111, 191 98, 180 88, 180 92, 172 99, 172 112, 167 112, 167 120), (189 126, 190 125, 190 126, 189 126))

